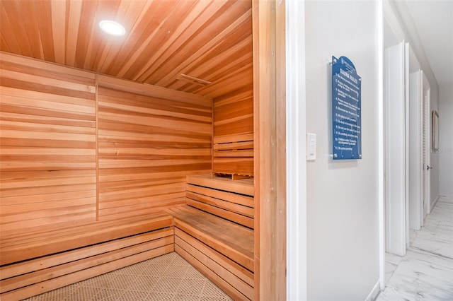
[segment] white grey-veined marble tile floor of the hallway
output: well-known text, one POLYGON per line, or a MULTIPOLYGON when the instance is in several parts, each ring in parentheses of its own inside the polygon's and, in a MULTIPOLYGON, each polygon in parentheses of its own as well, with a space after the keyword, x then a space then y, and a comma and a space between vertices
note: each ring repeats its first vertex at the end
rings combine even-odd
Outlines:
POLYGON ((386 288, 377 301, 453 300, 453 198, 440 197, 406 256, 386 254, 386 288))

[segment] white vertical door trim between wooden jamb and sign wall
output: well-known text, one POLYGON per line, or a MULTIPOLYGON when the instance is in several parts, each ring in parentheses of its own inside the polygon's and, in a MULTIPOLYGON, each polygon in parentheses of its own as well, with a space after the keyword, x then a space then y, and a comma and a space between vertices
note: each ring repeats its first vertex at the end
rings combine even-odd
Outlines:
POLYGON ((305 3, 286 1, 287 300, 307 300, 305 3))

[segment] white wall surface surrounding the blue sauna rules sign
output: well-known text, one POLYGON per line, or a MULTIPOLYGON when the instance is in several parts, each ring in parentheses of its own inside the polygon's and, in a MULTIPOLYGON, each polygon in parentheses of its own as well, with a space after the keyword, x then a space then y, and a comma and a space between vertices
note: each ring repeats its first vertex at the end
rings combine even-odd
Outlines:
POLYGON ((379 280, 377 1, 306 1, 306 130, 309 300, 365 300, 379 280), (362 76, 362 160, 333 161, 331 56, 362 76))

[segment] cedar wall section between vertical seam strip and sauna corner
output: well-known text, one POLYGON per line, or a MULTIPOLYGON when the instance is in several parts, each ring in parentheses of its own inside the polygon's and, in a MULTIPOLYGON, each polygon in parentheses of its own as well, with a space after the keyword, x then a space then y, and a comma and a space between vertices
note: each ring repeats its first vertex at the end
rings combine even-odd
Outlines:
POLYGON ((113 90, 111 78, 99 85, 100 218, 184 203, 185 175, 211 172, 212 100, 185 93, 159 98, 133 84, 113 90))

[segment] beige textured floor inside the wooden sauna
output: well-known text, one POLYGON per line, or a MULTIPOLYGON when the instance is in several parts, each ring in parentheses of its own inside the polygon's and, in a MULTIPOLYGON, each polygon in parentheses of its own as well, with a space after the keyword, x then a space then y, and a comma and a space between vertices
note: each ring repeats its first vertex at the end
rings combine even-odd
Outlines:
POLYGON ((26 300, 223 301, 231 298, 173 252, 26 300))

